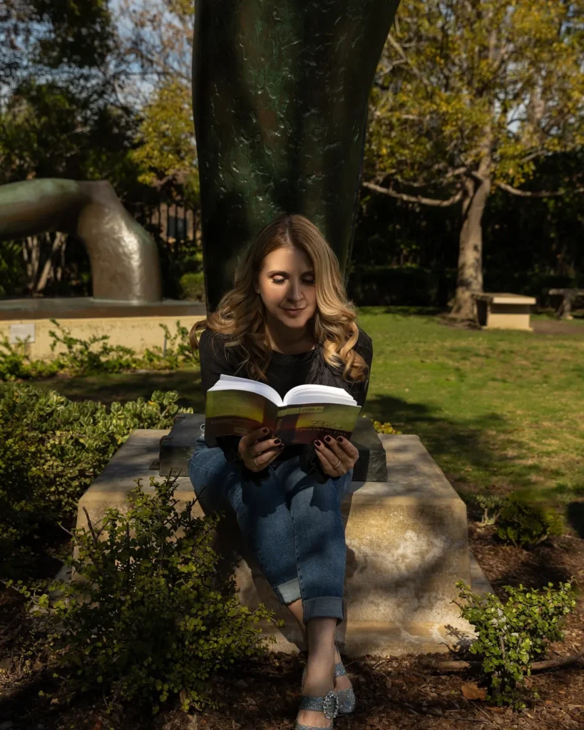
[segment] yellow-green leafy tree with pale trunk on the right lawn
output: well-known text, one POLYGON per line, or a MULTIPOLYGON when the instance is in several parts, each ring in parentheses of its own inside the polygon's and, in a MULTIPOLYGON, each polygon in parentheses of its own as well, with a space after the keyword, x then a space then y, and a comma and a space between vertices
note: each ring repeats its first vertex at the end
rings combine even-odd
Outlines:
POLYGON ((402 0, 377 69, 364 185, 459 205, 453 315, 483 288, 481 221, 497 186, 519 196, 536 161, 584 141, 584 0, 402 0))

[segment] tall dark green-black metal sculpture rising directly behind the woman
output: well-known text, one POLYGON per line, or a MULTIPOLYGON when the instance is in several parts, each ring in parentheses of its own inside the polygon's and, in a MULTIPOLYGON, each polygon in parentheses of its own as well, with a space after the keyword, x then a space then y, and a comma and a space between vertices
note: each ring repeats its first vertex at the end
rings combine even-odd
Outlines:
POLYGON ((366 112, 399 0, 196 0, 193 112, 207 307, 278 212, 306 215, 342 268, 366 112))

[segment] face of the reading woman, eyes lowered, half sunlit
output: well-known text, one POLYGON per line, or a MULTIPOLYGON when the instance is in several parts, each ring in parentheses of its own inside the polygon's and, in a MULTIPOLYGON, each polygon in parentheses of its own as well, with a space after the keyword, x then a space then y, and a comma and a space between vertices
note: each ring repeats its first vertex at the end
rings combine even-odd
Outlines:
POLYGON ((316 311, 312 261, 296 248, 277 248, 266 255, 255 285, 268 316, 287 327, 302 328, 316 311))

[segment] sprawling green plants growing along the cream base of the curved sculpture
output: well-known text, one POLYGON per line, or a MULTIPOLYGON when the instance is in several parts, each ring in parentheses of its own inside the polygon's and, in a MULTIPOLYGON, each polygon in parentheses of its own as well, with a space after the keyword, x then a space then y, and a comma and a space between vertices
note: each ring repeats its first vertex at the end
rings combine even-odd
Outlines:
POLYGON ((58 345, 60 351, 53 360, 31 360, 26 353, 26 343, 10 345, 7 338, 0 341, 0 381, 28 380, 50 377, 57 373, 69 375, 93 375, 104 372, 128 372, 136 369, 176 370, 199 362, 199 353, 193 352, 188 339, 188 329, 177 320, 177 330, 170 333, 165 324, 164 347, 146 350, 137 356, 130 347, 110 345, 107 334, 89 339, 73 337, 57 320, 50 320, 56 330, 50 330, 50 344, 53 352, 58 345))

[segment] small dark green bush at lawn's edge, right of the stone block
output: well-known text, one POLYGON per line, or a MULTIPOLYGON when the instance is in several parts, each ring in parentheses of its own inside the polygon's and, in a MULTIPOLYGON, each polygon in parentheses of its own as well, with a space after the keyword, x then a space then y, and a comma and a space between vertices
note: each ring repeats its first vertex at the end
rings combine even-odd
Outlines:
POLYGON ((520 494, 511 494, 499 515, 497 534, 504 542, 516 548, 531 550, 551 535, 563 531, 560 515, 545 510, 537 504, 529 504, 520 494))

